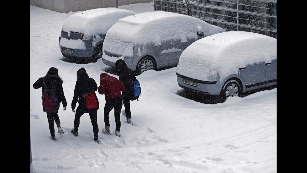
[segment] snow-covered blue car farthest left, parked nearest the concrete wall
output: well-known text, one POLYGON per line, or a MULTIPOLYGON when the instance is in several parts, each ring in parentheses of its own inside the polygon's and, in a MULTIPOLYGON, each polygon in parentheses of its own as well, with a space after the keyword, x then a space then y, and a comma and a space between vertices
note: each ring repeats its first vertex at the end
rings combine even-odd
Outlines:
POLYGON ((96 8, 70 15, 59 37, 61 53, 64 57, 101 58, 109 28, 118 19, 133 14, 136 13, 120 8, 96 8))

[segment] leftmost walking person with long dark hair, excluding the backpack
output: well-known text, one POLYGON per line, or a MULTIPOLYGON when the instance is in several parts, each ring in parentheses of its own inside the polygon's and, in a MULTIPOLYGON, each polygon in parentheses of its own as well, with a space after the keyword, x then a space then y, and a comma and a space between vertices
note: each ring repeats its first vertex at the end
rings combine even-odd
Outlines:
MULTIPOLYGON (((50 134, 51 134, 51 139, 54 140, 54 141, 56 140, 55 139, 54 122, 55 122, 56 126, 58 127, 58 132, 60 134, 64 134, 64 131, 62 129, 63 126, 61 126, 60 118, 59 118, 59 115, 58 115, 58 111, 59 111, 59 108, 60 108, 60 102, 62 102, 64 111, 66 110, 66 106, 67 106, 67 102, 66 102, 66 98, 65 98, 65 95, 64 95, 64 92, 63 92, 63 86, 62 86, 63 80, 60 78, 58 71, 59 70, 57 68, 51 67, 44 77, 39 78, 33 84, 34 89, 42 88, 43 93, 47 89, 54 88, 54 90, 55 90, 56 98, 58 99, 57 105, 55 105, 56 110, 55 110, 54 113, 46 112, 48 124, 49 124, 49 131, 50 131, 50 134)), ((43 97, 42 97, 42 99, 43 99, 43 97)))

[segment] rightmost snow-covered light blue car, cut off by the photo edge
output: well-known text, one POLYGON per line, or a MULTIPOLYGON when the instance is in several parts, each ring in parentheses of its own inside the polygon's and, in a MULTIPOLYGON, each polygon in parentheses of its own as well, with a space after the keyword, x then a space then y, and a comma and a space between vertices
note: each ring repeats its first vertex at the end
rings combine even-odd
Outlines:
POLYGON ((228 31, 195 41, 177 66, 181 88, 204 95, 229 96, 277 84, 277 39, 228 31))

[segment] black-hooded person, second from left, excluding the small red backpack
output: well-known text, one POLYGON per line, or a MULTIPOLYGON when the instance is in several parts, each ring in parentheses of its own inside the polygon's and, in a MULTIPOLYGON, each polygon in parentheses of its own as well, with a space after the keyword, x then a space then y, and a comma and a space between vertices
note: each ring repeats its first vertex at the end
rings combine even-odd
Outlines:
POLYGON ((94 132, 94 141, 98 141, 98 123, 97 123, 97 111, 99 109, 99 102, 95 91, 97 91, 97 83, 93 78, 90 78, 86 73, 85 68, 80 68, 77 71, 77 82, 75 85, 74 97, 71 102, 71 109, 75 113, 75 128, 71 130, 75 136, 78 136, 78 128, 80 124, 80 117, 84 113, 88 113, 91 118, 91 123, 94 132), (86 106, 86 94, 92 92, 96 97, 97 107, 88 109, 86 106), (76 103, 78 102, 77 110, 75 110, 76 103))

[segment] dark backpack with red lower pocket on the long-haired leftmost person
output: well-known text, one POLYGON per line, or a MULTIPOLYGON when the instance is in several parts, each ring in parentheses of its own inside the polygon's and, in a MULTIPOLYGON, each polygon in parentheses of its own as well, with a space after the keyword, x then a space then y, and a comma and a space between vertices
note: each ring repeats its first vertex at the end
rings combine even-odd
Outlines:
POLYGON ((59 100, 55 94, 55 86, 49 88, 47 87, 44 81, 43 84, 44 84, 44 92, 42 94, 43 111, 47 113, 56 113, 59 109, 59 100))

